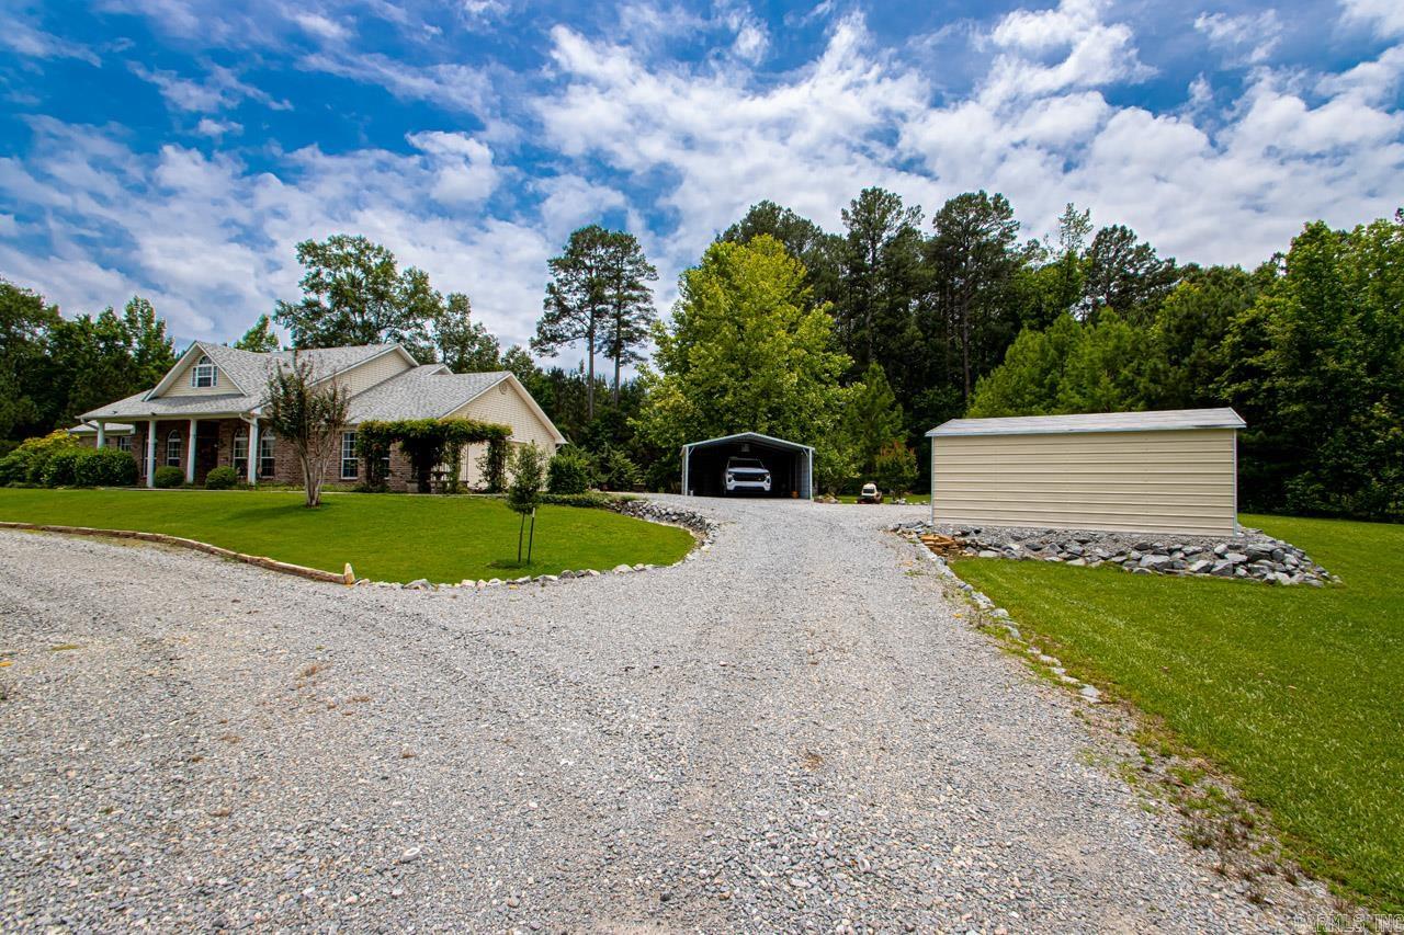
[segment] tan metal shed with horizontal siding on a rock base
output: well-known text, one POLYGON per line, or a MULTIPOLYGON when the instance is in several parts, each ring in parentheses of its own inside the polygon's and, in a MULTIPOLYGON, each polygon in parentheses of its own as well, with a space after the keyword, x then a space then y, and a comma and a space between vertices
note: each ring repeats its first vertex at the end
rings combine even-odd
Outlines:
POLYGON ((931 518, 983 526, 1233 535, 1231 409, 952 418, 931 438, 931 518))

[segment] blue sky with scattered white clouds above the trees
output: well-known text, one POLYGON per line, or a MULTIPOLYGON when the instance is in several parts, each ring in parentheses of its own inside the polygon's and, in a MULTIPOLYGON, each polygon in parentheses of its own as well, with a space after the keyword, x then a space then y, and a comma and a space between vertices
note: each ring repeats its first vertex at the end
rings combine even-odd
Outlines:
POLYGON ((1002 191, 1254 264, 1404 202, 1400 0, 0 0, 0 275, 178 340, 295 299, 364 233, 505 343, 590 222, 681 268, 762 198, 1002 191))

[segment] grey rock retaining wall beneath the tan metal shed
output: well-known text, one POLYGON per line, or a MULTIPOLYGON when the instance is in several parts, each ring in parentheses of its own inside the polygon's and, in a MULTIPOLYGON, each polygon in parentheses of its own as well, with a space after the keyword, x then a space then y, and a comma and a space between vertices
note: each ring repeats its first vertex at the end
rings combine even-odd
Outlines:
POLYGON ((1196 574, 1311 587, 1335 580, 1302 549, 1261 529, 1245 528, 1224 539, 929 522, 904 522, 892 529, 911 539, 924 533, 953 536, 962 545, 962 555, 981 559, 1061 562, 1094 569, 1116 564, 1132 574, 1196 574))

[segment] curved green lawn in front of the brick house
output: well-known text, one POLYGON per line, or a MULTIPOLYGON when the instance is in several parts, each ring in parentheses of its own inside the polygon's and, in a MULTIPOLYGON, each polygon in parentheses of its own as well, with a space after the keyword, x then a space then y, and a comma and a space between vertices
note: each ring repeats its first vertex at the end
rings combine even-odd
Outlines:
POLYGON ((519 518, 501 500, 265 490, 6 490, 0 519, 138 529, 199 539, 378 581, 462 581, 555 574, 564 569, 670 564, 692 536, 608 510, 542 507, 532 563, 517 566, 519 518))

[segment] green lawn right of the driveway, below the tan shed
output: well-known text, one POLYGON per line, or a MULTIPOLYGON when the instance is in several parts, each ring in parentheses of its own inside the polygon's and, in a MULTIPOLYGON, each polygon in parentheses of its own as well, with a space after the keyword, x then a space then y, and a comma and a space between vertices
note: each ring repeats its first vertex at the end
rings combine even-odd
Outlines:
POLYGON ((1304 866, 1404 911, 1404 526, 1244 517, 1328 588, 966 559, 1074 674, 1158 715, 1265 806, 1304 866))

